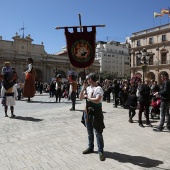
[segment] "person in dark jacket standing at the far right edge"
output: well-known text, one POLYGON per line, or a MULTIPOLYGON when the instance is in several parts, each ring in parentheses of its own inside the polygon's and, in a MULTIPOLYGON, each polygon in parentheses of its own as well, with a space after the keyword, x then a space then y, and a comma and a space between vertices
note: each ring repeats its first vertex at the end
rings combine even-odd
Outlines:
POLYGON ((156 92, 155 95, 159 94, 161 96, 161 113, 160 113, 160 122, 159 126, 153 129, 156 132, 161 132, 164 129, 165 116, 167 118, 166 129, 170 131, 170 80, 168 73, 164 72, 161 74, 161 79, 163 81, 162 88, 159 92, 156 92))

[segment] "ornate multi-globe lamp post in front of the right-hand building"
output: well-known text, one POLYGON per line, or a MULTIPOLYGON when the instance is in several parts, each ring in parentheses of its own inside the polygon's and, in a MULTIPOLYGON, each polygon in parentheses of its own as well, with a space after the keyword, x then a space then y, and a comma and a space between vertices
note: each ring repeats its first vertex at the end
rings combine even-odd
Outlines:
POLYGON ((140 59, 140 66, 143 72, 143 76, 142 76, 143 82, 145 79, 145 71, 146 71, 147 65, 149 64, 150 55, 151 55, 151 51, 147 52, 145 48, 143 48, 142 51, 138 51, 136 53, 137 58, 140 59))

